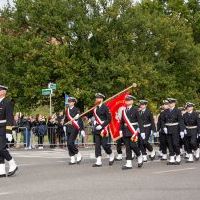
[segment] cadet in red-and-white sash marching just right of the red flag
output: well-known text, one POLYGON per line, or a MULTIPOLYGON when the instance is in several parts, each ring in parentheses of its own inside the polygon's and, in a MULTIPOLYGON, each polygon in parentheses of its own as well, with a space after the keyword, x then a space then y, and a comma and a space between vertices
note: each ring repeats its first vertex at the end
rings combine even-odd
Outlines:
POLYGON ((142 153, 138 147, 138 127, 142 128, 138 111, 133 107, 135 97, 128 95, 125 98, 126 108, 122 111, 120 134, 123 134, 123 141, 126 147, 126 164, 123 170, 132 169, 132 150, 137 156, 138 167, 142 167, 142 153))

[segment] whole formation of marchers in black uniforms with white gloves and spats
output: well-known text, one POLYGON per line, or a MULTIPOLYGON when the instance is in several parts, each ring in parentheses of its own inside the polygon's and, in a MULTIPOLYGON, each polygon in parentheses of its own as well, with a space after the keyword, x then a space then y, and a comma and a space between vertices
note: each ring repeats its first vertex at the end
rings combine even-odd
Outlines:
MULTIPOLYGON (((6 144, 6 133, 12 134, 14 120, 13 105, 6 98, 7 90, 6 86, 0 85, 1 178, 13 176, 18 170, 14 159, 7 150, 6 144), (5 170, 5 161, 9 163, 8 173, 5 170)), ((127 92, 128 90, 125 91, 127 92)), ((118 95, 121 94, 124 94, 124 91, 118 95)), ((135 106, 136 97, 128 92, 124 95, 124 106, 117 110, 119 127, 115 127, 118 135, 117 139, 115 139, 117 155, 114 155, 109 143, 113 113, 104 101, 104 94, 96 93, 94 96, 95 106, 89 112, 83 114, 76 107, 77 99, 75 97, 69 97, 68 99, 65 127, 70 165, 80 164, 83 160, 75 143, 79 133, 83 136, 85 135, 82 117, 93 124, 96 162, 92 167, 102 166, 102 148, 108 155, 109 165, 112 166, 115 161, 123 159, 122 149, 125 146, 126 163, 122 166, 122 170, 132 169, 134 156, 137 158, 138 168, 141 168, 148 159, 153 161, 156 157, 156 151, 149 142, 150 136, 156 134, 159 134, 160 159, 163 161, 168 160, 167 165, 181 164, 181 149, 185 151, 186 162, 193 163, 194 160, 199 160, 200 118, 195 111, 194 103, 187 102, 184 109, 181 110, 176 107, 176 99, 166 98, 163 100, 158 121, 155 123, 153 114, 148 108, 148 101, 139 100, 138 106, 135 106), (149 157, 147 153, 149 153, 149 157)))

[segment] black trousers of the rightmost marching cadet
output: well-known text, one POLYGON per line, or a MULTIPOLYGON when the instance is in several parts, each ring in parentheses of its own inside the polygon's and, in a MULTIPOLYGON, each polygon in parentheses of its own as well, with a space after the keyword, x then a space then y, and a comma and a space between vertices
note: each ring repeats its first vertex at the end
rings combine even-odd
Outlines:
POLYGON ((188 154, 192 154, 192 150, 197 150, 197 134, 185 135, 184 142, 188 154))

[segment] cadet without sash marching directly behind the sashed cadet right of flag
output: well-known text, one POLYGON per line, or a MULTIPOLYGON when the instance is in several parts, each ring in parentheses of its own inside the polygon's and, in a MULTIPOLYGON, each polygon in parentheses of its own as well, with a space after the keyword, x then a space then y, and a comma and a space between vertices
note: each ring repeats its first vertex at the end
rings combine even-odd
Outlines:
POLYGON ((152 145, 149 143, 149 138, 151 133, 156 132, 156 127, 153 119, 152 112, 147 108, 148 101, 140 100, 140 109, 139 109, 139 116, 142 121, 143 131, 140 130, 140 137, 139 137, 139 146, 142 151, 143 161, 147 162, 147 153, 146 149, 150 151, 150 159, 155 159, 155 151, 153 150, 152 145))

